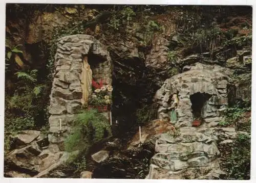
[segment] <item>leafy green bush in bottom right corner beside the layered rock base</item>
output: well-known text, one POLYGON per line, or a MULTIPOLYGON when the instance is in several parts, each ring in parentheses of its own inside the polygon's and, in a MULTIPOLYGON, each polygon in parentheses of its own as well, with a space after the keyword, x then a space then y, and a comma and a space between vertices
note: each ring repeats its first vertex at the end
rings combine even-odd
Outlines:
POLYGON ((226 179, 250 179, 250 135, 239 134, 225 164, 226 179))

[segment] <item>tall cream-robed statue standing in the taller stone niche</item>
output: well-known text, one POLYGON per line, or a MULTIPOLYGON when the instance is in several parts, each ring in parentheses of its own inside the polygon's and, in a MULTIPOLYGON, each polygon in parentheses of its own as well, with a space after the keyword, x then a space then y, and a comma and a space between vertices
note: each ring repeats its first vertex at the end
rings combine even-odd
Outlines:
POLYGON ((92 69, 88 63, 88 58, 84 57, 82 64, 82 104, 88 101, 88 96, 92 91, 92 69))

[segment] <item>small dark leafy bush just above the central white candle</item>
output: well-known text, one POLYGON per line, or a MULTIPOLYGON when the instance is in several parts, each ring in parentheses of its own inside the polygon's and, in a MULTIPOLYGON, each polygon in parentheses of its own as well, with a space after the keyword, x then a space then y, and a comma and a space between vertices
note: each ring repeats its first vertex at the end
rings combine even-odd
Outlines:
POLYGON ((157 118, 157 104, 144 105, 136 111, 137 123, 146 124, 157 118))

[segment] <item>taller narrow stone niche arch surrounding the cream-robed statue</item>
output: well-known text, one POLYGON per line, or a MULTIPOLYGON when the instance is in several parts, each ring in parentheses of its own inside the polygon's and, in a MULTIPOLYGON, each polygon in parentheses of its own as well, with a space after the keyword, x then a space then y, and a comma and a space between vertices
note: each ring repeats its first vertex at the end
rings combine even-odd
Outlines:
POLYGON ((96 81, 103 79, 103 85, 112 84, 112 62, 105 45, 89 35, 58 39, 50 95, 48 138, 61 151, 64 150, 62 142, 71 131, 74 114, 82 106, 81 75, 84 57, 87 57, 96 81))

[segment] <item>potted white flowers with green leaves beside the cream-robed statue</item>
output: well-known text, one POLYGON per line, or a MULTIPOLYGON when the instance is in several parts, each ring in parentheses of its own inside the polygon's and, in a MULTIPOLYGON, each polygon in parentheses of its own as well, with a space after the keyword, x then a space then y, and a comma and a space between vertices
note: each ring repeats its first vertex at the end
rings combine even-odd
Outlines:
POLYGON ((108 107, 112 103, 111 92, 112 86, 93 85, 93 92, 89 95, 88 109, 95 108, 99 112, 108 111, 108 107), (100 88, 99 88, 100 87, 100 88))

